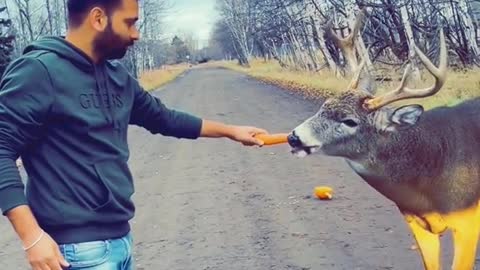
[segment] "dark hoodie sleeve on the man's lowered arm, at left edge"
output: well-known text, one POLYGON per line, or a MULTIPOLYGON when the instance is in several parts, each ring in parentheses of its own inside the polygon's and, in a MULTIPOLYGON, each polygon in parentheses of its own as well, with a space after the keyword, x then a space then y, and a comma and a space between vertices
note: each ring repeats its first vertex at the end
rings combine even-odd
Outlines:
POLYGON ((0 209, 4 215, 27 204, 15 160, 41 136, 54 99, 50 91, 48 72, 31 57, 13 61, 0 82, 0 209))

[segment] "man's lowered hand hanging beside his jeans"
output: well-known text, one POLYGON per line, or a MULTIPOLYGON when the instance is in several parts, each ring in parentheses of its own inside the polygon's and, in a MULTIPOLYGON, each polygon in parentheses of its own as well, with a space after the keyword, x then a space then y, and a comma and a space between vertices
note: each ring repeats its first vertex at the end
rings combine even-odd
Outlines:
POLYGON ((33 270, 62 270, 69 267, 55 241, 48 234, 27 251, 28 262, 33 270))

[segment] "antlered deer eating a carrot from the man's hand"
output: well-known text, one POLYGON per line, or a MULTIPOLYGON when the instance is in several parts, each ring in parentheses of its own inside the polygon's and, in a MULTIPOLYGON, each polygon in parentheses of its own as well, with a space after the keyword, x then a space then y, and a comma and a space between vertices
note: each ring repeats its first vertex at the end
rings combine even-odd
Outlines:
MULTIPOLYGON (((347 89, 328 97, 316 114, 295 127, 288 144, 299 157, 320 153, 343 158, 392 201, 412 232, 424 269, 441 269, 440 237, 450 230, 451 269, 469 270, 480 233, 480 98, 429 110, 420 104, 392 104, 433 96, 444 86, 448 52, 443 30, 439 32, 438 67, 414 48, 435 79, 431 86, 409 88, 408 65, 396 89, 377 94, 370 76, 361 76, 362 61, 347 89)), ((354 49, 351 36, 336 38, 342 50, 354 49)))

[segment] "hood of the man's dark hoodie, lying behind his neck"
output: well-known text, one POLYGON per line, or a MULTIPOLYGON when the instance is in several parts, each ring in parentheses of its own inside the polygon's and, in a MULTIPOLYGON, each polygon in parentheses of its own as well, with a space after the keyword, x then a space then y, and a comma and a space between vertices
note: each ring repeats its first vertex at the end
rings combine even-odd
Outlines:
POLYGON ((68 42, 65 37, 46 36, 25 47, 23 54, 32 51, 48 51, 72 62, 84 71, 94 71, 95 65, 83 51, 68 42))

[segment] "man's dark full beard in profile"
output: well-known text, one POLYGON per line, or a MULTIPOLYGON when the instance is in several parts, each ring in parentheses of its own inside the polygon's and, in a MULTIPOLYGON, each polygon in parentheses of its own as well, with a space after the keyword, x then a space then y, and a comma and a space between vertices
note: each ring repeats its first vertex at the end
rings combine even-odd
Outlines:
POLYGON ((93 41, 93 49, 101 60, 123 58, 131 45, 133 45, 132 41, 125 41, 113 32, 110 23, 105 32, 99 34, 93 41))

